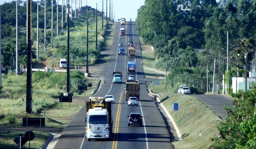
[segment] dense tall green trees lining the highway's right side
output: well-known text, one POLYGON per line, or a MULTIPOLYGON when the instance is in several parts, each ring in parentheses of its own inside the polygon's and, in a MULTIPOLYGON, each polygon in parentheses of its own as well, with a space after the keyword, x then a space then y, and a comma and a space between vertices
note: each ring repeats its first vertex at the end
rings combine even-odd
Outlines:
MULTIPOLYGON (((219 73, 224 74, 227 65, 227 31, 231 44, 230 76, 235 76, 236 68, 238 72, 243 71, 245 54, 248 55, 247 62, 254 58, 255 12, 254 0, 220 0, 218 3, 215 0, 146 0, 138 10, 137 31, 144 42, 154 47, 154 54, 159 59, 156 67, 171 72, 166 79, 166 88, 188 84, 194 86, 196 92, 204 93, 206 67, 209 67, 209 80, 213 80, 214 60, 215 84, 222 80, 219 73), (237 53, 240 56, 236 56, 237 53)), ((243 73, 237 75, 241 77, 243 73)), ((229 84, 229 72, 226 77, 225 82, 229 84)), ((208 85, 212 87, 213 81, 208 85)))

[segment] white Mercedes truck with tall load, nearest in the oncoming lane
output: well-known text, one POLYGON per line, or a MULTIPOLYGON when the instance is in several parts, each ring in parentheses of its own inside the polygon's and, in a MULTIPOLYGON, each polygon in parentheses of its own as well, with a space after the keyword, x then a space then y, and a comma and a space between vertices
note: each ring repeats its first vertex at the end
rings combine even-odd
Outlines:
POLYGON ((86 102, 85 133, 88 141, 113 136, 111 101, 104 97, 89 97, 86 102))

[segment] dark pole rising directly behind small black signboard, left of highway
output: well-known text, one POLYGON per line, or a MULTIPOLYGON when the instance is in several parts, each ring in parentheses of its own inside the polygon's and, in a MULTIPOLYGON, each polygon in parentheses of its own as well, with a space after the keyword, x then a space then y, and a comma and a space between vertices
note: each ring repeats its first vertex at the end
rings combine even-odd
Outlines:
POLYGON ((69 62, 69 0, 68 0, 68 52, 67 52, 67 93, 70 92, 70 62, 69 62))

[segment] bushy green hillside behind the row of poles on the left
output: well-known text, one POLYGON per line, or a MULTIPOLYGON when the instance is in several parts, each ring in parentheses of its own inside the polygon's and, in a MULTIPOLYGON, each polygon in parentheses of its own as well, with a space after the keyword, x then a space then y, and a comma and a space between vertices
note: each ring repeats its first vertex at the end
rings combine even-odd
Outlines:
MULTIPOLYGON (((57 29, 57 4, 53 1, 53 48, 51 45, 51 19, 52 19, 52 2, 46 0, 46 41, 47 50, 44 50, 44 28, 45 28, 45 4, 39 5, 39 59, 36 59, 36 26, 37 26, 37 4, 32 3, 32 56, 34 62, 40 62, 41 60, 47 60, 49 66, 52 64, 54 57, 54 66, 58 66, 60 58, 67 58, 67 22, 65 9, 63 6, 63 32, 61 31, 61 5, 59 3, 58 9, 58 29, 59 35, 56 35, 57 29)), ((71 10, 70 10, 71 11, 71 10)), ((78 12, 78 11, 76 11, 78 12)), ((73 10, 73 18, 70 20, 70 61, 74 65, 85 65, 86 64, 86 24, 87 24, 87 6, 82 7, 82 14, 76 19, 74 17, 75 10, 73 10), (78 19, 79 18, 79 19, 78 19), (79 32, 78 32, 79 31, 79 32), (79 34, 79 36, 77 35, 79 34), (76 36, 76 38, 74 38, 76 36)), ((97 11, 98 15, 98 49, 96 49, 96 9, 88 6, 89 16, 89 62, 93 64, 100 54, 101 45, 103 39, 99 38, 105 33, 105 24, 102 30, 101 16, 102 12, 97 11), (100 17, 99 17, 100 16, 100 17)), ((15 59, 16 53, 16 3, 4 3, 1 5, 1 37, 2 37, 2 66, 6 68, 15 69, 14 64, 11 61, 15 59), (12 55, 13 53, 13 55, 12 55), (14 66, 14 67, 13 67, 14 66)), ((26 66, 26 4, 18 3, 18 52, 19 52, 19 65, 20 67, 26 66), (23 52, 25 50, 25 52, 23 52)))

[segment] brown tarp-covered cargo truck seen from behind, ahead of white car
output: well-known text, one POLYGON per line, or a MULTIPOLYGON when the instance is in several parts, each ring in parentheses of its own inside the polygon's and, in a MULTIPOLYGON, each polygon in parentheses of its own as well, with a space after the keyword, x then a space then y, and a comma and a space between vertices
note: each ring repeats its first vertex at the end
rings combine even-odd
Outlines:
POLYGON ((125 90, 127 101, 129 97, 137 97, 138 100, 140 100, 140 83, 139 81, 126 81, 126 90, 125 90))

